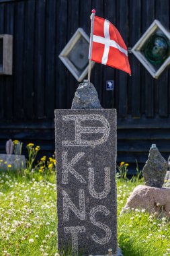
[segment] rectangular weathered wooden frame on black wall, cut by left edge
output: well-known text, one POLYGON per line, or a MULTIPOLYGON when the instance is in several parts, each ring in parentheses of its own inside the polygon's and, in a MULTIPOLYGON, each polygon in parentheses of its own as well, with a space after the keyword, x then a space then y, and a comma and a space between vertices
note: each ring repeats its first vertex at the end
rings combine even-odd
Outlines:
POLYGON ((12 75, 13 36, 0 34, 0 75, 12 75))

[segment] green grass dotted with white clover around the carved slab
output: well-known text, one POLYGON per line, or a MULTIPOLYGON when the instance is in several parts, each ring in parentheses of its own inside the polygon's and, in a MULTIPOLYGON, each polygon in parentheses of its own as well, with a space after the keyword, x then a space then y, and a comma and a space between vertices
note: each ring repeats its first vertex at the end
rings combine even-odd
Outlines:
MULTIPOLYGON (((170 255, 168 220, 139 210, 120 216, 126 199, 142 181, 117 183, 118 244, 124 256, 170 255)), ((0 255, 56 255, 56 224, 54 174, 0 174, 0 255)))

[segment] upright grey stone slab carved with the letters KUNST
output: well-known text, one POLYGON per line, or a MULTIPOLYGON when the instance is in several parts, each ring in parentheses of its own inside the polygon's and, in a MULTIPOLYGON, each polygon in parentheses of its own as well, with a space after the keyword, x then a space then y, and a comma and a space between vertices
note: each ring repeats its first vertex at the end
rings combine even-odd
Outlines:
POLYGON ((116 110, 55 110, 58 249, 117 253, 116 110))

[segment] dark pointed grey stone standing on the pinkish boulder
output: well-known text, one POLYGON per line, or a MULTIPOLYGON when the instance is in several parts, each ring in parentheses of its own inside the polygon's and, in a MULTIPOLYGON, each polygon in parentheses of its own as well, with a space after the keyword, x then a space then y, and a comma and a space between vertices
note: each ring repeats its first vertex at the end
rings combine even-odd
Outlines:
POLYGON ((151 187, 162 187, 167 172, 167 161, 161 156, 159 150, 151 148, 148 160, 142 170, 144 184, 151 187))

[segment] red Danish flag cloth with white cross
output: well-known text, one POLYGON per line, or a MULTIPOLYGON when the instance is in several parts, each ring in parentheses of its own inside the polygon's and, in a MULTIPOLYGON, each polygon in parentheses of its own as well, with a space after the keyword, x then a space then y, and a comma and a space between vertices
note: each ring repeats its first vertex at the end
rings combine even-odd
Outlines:
POLYGON ((131 75, 128 51, 122 36, 111 22, 97 16, 94 18, 91 60, 131 75))

